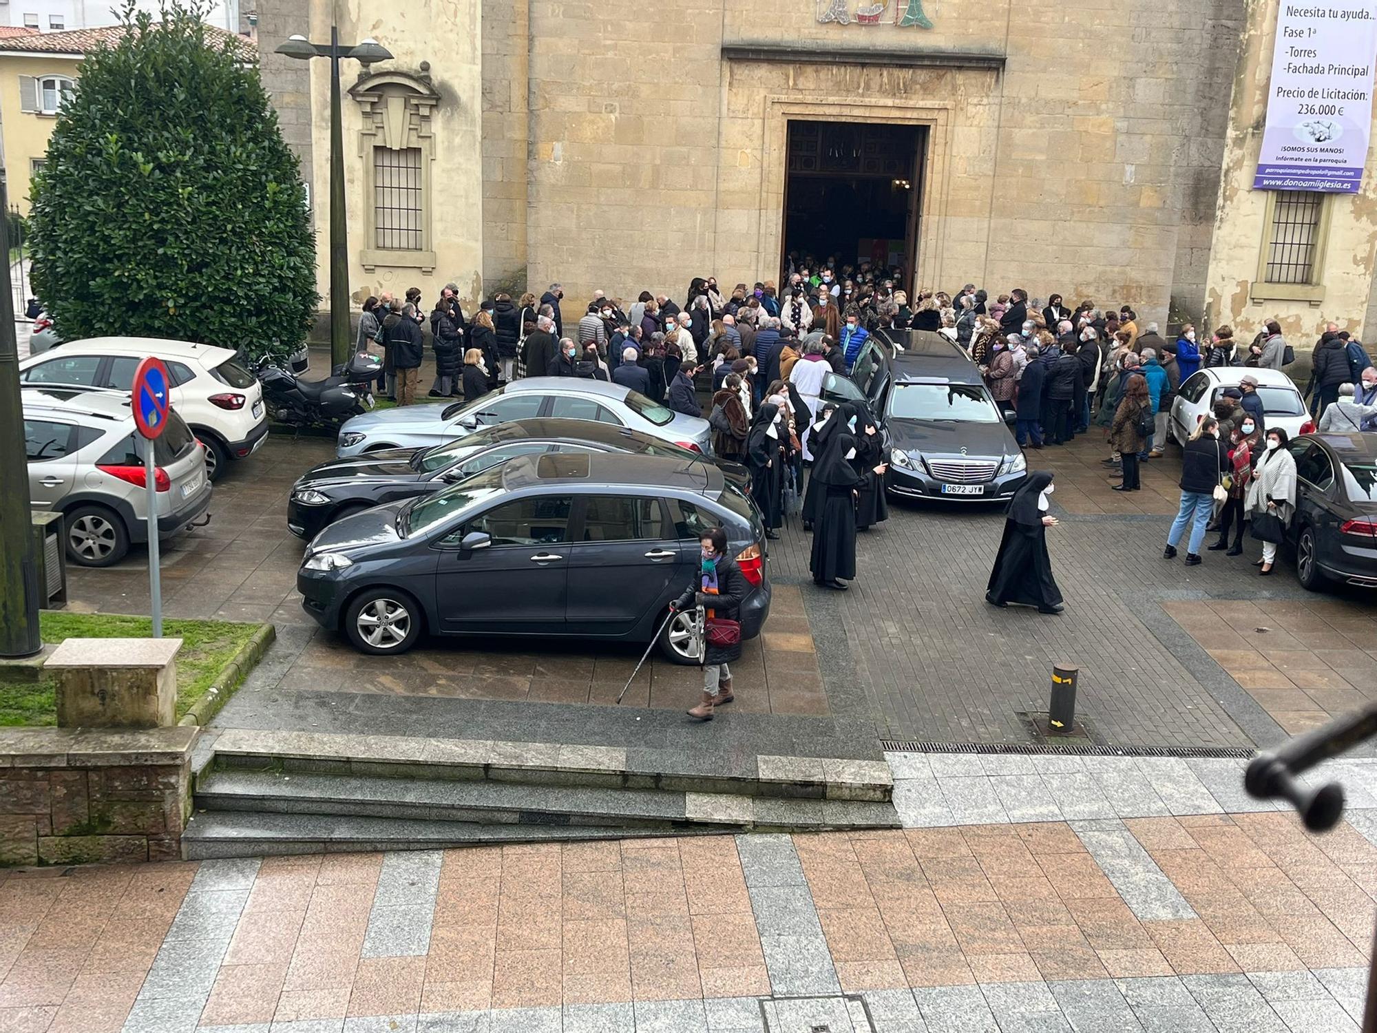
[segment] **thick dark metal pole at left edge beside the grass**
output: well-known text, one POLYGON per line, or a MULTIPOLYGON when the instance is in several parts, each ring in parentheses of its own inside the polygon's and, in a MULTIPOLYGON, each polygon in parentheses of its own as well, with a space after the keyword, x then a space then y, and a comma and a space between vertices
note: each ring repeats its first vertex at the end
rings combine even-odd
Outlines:
POLYGON ((4 185, 0 183, 0 657, 30 657, 43 649, 39 629, 39 567, 33 556, 29 518, 29 470, 19 393, 19 344, 14 336, 14 295, 10 284, 10 227, 4 185))

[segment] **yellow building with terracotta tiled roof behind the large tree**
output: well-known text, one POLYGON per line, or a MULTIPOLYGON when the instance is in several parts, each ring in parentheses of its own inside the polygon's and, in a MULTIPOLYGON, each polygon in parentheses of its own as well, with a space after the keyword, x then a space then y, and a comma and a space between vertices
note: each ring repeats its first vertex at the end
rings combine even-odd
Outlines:
MULTIPOLYGON (((88 51, 118 39, 121 26, 52 33, 0 34, 0 139, 10 205, 29 213, 29 180, 43 167, 48 136, 67 95, 81 77, 88 51)), ((215 40, 233 39, 245 61, 256 61, 253 43, 211 28, 215 40)))

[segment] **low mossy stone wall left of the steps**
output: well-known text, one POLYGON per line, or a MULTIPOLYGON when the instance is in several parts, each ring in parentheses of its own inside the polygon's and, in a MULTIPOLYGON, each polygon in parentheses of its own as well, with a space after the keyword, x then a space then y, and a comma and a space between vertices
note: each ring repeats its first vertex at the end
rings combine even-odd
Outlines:
POLYGON ((196 735, 0 729, 0 865, 180 858, 196 735))

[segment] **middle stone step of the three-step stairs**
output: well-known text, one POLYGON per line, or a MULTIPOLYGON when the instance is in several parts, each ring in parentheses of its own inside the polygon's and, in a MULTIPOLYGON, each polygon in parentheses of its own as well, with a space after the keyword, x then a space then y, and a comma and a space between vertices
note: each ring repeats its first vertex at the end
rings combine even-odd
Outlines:
POLYGON ((899 825, 894 806, 879 802, 242 769, 216 770, 202 777, 196 806, 207 811, 661 831, 705 825, 734 832, 821 832, 899 825))

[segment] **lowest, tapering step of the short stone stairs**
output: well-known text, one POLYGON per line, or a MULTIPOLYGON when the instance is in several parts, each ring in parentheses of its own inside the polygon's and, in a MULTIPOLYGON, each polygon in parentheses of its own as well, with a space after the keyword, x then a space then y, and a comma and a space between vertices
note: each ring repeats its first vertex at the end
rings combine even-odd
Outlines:
POLYGON ((223 857, 573 843, 628 836, 701 835, 708 831, 680 829, 669 833, 587 825, 478 825, 413 818, 207 811, 191 815, 182 833, 182 850, 189 861, 208 861, 223 857))

